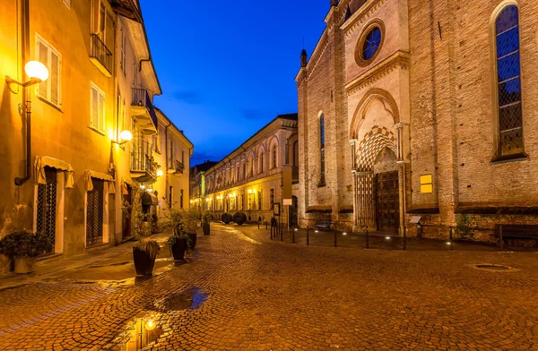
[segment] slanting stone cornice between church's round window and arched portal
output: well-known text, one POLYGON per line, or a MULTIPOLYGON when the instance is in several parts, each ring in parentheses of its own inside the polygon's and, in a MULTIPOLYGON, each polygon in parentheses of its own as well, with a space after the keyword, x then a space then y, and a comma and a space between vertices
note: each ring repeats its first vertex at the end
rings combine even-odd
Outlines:
POLYGON ((347 96, 350 96, 380 78, 386 76, 386 74, 395 71, 396 69, 408 69, 409 68, 409 53, 405 51, 396 51, 393 55, 388 56, 383 62, 377 64, 368 72, 361 74, 345 85, 347 96))

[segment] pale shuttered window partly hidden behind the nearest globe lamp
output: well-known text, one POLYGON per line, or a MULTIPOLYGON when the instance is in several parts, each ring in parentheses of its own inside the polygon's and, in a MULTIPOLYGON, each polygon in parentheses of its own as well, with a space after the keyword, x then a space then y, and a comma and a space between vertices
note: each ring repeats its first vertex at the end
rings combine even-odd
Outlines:
POLYGON ((62 56, 45 39, 36 34, 38 61, 48 68, 48 80, 36 86, 36 94, 56 107, 61 106, 62 56))

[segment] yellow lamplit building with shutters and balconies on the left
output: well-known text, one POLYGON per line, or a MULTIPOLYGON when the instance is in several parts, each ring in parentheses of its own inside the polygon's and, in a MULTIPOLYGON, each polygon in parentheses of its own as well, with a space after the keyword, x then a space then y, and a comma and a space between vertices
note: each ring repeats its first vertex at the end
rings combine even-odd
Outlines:
MULTIPOLYGON (((0 21, 3 76, 28 81, 30 61, 48 68, 46 81, 0 87, 0 237, 44 232, 54 239, 51 257, 121 244, 131 236, 122 205, 142 185, 166 194, 169 178, 153 152, 161 86, 138 2, 5 0, 0 21)), ((188 164, 192 143, 179 144, 188 164)))

